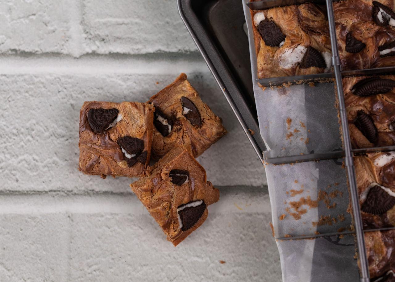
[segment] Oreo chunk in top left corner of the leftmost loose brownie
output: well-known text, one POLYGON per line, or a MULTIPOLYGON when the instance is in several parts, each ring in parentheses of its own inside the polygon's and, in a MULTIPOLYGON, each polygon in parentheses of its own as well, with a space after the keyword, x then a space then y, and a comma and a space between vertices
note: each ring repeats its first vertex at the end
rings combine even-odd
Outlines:
POLYGON ((87 114, 88 123, 93 132, 101 134, 117 118, 118 109, 90 109, 87 114))

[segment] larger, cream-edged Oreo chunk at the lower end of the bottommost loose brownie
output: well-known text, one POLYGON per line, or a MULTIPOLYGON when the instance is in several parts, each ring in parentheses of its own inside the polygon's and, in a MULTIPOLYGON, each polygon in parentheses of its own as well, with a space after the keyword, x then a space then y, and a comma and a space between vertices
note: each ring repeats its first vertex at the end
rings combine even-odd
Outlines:
POLYGON ((196 222, 199 221, 205 210, 206 204, 202 200, 192 201, 179 206, 177 212, 182 223, 181 230, 187 231, 193 227, 196 222))

